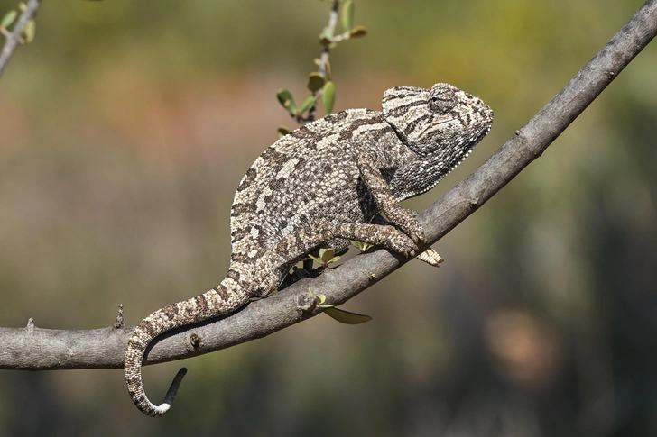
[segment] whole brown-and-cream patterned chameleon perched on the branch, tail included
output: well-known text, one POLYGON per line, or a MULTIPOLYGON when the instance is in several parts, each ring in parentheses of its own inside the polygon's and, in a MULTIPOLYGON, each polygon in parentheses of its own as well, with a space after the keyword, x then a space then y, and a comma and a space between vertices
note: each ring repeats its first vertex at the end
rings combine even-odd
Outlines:
POLYGON ((125 380, 134 404, 154 417, 166 413, 184 375, 179 372, 162 405, 148 400, 141 367, 155 337, 266 296, 309 253, 343 250, 356 240, 416 255, 424 234, 415 213, 399 202, 435 187, 491 123, 490 107, 455 86, 400 86, 385 91, 383 112, 348 109, 273 143, 237 187, 226 278, 202 295, 155 311, 130 338, 125 380), (379 214, 386 224, 378 224, 379 214))

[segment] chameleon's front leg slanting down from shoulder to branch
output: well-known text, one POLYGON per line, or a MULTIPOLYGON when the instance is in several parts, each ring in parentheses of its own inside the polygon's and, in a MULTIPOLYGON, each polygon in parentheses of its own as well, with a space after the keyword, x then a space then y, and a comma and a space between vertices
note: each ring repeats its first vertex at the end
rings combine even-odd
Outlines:
POLYGON ((379 211, 385 214, 390 223, 393 223, 411 237, 416 244, 418 241, 425 241, 424 232, 422 232, 420 223, 415 219, 415 215, 399 205, 373 159, 368 155, 361 155, 358 158, 358 169, 372 197, 375 199, 376 206, 379 211))

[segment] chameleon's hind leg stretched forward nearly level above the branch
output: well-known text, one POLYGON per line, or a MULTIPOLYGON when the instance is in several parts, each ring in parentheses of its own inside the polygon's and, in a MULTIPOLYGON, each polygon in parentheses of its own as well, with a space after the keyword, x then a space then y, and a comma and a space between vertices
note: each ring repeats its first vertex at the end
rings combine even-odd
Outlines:
POLYGON ((273 246, 269 256, 276 259, 284 253, 286 258, 299 259, 336 238, 383 246, 407 258, 418 250, 417 245, 406 234, 393 226, 369 223, 319 223, 317 226, 304 228, 283 238, 273 246))

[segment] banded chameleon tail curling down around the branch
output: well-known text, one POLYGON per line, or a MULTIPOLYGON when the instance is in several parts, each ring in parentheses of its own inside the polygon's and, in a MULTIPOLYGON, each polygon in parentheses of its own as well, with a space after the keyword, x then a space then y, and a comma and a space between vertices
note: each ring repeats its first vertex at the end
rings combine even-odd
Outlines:
POLYGON ((187 369, 180 369, 162 405, 154 405, 146 396, 142 382, 143 354, 148 345, 164 332, 227 314, 245 305, 249 295, 244 288, 236 286, 236 278, 239 278, 239 272, 229 269, 227 277, 217 287, 202 295, 164 306, 137 325, 125 351, 124 372, 130 397, 143 414, 159 417, 169 411, 180 382, 187 373, 187 369))

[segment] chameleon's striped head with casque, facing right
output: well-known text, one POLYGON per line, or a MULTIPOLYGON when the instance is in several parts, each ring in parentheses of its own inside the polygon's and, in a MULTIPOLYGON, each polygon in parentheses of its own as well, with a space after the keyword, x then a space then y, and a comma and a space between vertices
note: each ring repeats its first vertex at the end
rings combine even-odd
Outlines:
POLYGON ((493 123, 488 105, 449 84, 391 88, 383 106, 385 121, 409 148, 447 168, 465 159, 493 123))

